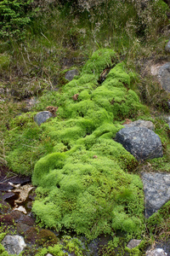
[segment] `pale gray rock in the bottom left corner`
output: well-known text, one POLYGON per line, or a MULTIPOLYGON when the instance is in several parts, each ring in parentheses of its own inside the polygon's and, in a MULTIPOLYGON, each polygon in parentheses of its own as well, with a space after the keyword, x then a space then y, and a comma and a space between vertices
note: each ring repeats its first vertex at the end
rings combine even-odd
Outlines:
POLYGON ((5 236, 1 242, 9 254, 19 254, 26 247, 26 242, 22 236, 5 236))

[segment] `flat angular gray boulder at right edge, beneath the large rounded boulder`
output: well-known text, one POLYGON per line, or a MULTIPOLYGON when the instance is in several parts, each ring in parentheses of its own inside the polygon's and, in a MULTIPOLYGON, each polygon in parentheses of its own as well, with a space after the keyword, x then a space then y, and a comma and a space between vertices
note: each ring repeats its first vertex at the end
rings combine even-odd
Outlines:
POLYGON ((170 174, 143 172, 145 218, 149 218, 170 200, 170 174))

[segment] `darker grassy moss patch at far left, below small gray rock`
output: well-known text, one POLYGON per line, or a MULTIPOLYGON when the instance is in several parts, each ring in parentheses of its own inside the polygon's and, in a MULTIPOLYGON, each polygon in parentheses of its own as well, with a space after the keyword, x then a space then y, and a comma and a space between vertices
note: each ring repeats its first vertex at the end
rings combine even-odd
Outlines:
POLYGON ((36 113, 24 113, 12 119, 6 137, 8 166, 14 172, 30 175, 36 161, 53 152, 50 137, 34 122, 36 113))

